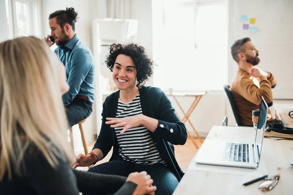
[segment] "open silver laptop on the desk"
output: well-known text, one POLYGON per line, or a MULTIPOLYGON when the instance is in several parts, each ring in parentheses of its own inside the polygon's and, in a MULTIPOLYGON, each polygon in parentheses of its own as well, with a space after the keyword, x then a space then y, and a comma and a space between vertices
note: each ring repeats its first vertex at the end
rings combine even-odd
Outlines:
MULTIPOLYGON (((224 140, 206 139, 195 157, 195 162, 198 164, 256 169, 259 165, 262 142, 267 122, 267 114, 268 105, 262 97, 254 141, 253 137, 251 137, 251 140, 247 140, 247 142, 245 141, 244 143, 232 143, 224 140)), ((233 131, 232 128, 231 131, 233 131)))

